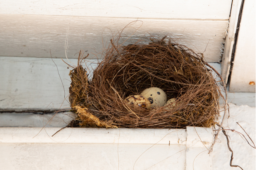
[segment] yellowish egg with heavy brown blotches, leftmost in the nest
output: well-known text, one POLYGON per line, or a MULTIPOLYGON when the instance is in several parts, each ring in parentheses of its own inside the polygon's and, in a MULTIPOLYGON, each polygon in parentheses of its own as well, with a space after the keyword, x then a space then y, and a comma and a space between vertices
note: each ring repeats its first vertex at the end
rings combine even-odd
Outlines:
POLYGON ((143 107, 146 109, 150 109, 150 101, 147 100, 147 98, 141 96, 141 95, 132 95, 127 97, 124 100, 126 103, 132 104, 134 106, 143 107))

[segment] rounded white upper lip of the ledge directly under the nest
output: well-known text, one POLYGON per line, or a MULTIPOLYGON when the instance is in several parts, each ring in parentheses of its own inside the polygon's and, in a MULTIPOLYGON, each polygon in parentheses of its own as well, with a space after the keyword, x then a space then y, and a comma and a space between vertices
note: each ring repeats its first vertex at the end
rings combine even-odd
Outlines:
POLYGON ((0 127, 1 143, 106 143, 106 144, 176 144, 203 147, 212 143, 211 128, 186 129, 107 129, 46 127, 0 127), (196 131, 194 130, 196 129, 196 131), (40 133, 39 133, 40 132, 40 133), (196 133, 197 132, 197 133, 196 133), (200 138, 198 137, 200 136, 200 138), (202 140, 202 141, 201 141, 202 140), (169 142, 170 141, 170 142, 169 142))

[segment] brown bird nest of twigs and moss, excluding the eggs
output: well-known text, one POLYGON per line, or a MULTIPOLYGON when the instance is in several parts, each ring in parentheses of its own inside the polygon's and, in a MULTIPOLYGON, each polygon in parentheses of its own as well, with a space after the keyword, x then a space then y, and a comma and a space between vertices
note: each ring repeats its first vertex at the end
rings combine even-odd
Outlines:
POLYGON ((220 88, 214 69, 202 53, 165 39, 129 45, 111 40, 92 80, 82 67, 88 55, 80 51, 78 66, 70 71, 69 97, 79 127, 184 128, 216 123, 220 88), (175 106, 147 110, 125 103, 126 97, 150 87, 164 90, 167 100, 175 98, 175 106))

